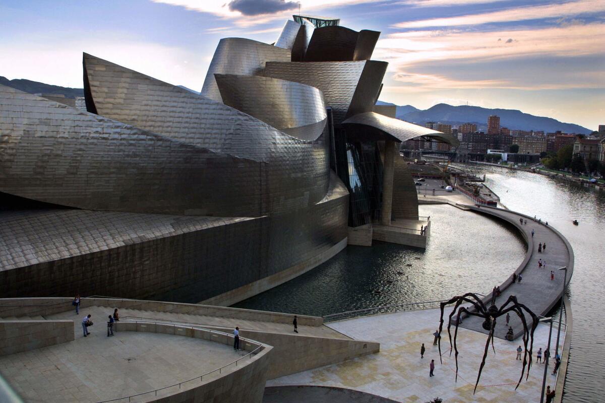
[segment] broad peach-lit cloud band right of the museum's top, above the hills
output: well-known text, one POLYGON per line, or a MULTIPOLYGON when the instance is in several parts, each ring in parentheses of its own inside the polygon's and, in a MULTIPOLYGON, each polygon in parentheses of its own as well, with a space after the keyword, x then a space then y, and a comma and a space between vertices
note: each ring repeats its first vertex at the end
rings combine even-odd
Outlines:
POLYGON ((374 58, 388 61, 392 84, 413 92, 603 88, 604 35, 605 24, 597 23, 495 32, 411 31, 379 40, 374 58))

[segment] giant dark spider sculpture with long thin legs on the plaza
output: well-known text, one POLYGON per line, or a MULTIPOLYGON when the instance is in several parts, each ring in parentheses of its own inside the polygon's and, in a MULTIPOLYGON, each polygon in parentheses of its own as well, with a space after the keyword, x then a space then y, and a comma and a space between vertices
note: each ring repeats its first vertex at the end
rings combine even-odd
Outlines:
MULTIPOLYGON (((495 289, 494 289, 495 291, 495 289)), ((452 350, 454 350, 455 355, 454 358, 456 359, 456 381, 458 380, 458 349, 456 346, 456 336, 458 335, 458 325, 460 324, 460 316, 462 314, 466 314, 466 315, 470 315, 470 316, 476 316, 479 318, 483 318, 483 329, 488 330, 488 340, 485 343, 485 351, 483 352, 483 360, 481 361, 481 366, 479 367, 479 373, 477 374, 477 382, 475 383, 475 389, 473 391, 473 394, 475 392, 477 392, 477 385, 479 385, 479 379, 481 378, 481 371, 483 370, 483 366, 485 366, 485 359, 487 357, 488 354, 488 350, 489 350, 489 342, 491 341, 492 343, 492 349, 494 349, 494 329, 495 329, 495 324, 496 324, 496 319, 506 315, 508 312, 514 312, 515 314, 518 315, 518 317, 521 319, 522 323, 523 323, 523 344, 525 345, 525 355, 523 355, 523 369, 521 370, 521 376, 519 378, 519 381, 517 382, 517 386, 515 387, 515 390, 517 390, 517 388, 519 387, 519 384, 521 383, 521 381, 523 380, 523 374, 525 373, 525 367, 527 366, 528 369, 528 373, 527 373, 527 377, 525 379, 527 379, 529 377, 529 369, 531 367, 531 356, 532 356, 532 347, 534 344, 534 330, 535 328, 538 326, 538 317, 534 314, 534 312, 530 311, 529 308, 527 308, 525 305, 518 303, 517 301, 517 297, 515 297, 514 295, 511 295, 510 297, 508 297, 508 300, 506 300, 506 302, 504 303, 504 305, 502 305, 500 308, 497 308, 495 306, 495 292, 492 292, 492 300, 491 300, 491 306, 489 306, 489 308, 486 308, 485 304, 483 303, 483 301, 477 297, 476 294, 473 293, 467 293, 464 295, 458 295, 454 298, 451 298, 451 300, 449 301, 445 301, 441 303, 441 317, 440 317, 440 323, 439 323, 439 357, 441 356, 441 331, 443 329, 443 309, 445 309, 446 305, 450 305, 451 303, 456 303, 456 305, 454 305, 454 309, 451 311, 450 313, 450 318, 448 320, 448 336, 450 337, 450 356, 451 356, 451 352, 452 350), (460 306, 462 305, 462 303, 470 303, 471 305, 473 305, 474 309, 466 309, 464 306, 460 306), (531 327, 528 326, 528 323, 525 319, 525 315, 523 314, 523 310, 526 311, 532 318, 532 323, 531 323, 531 327), (454 329, 454 339, 452 340, 451 337, 451 325, 452 325, 452 317, 456 315, 456 329, 454 329), (453 345, 452 345, 452 341, 453 341, 453 345), (528 341, 529 341, 529 351, 528 351, 528 341), (528 361, 528 355, 529 355, 529 361, 528 361)), ((495 354, 495 349, 494 349, 494 354, 495 354)), ((443 363, 443 361, 442 361, 443 363)))

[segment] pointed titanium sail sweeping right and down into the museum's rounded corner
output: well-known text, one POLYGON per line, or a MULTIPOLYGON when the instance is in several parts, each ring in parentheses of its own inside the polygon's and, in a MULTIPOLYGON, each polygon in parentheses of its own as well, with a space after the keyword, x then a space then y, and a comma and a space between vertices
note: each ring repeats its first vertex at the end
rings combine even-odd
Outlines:
MULTIPOLYGON (((241 184, 246 178, 262 182, 257 191, 263 195, 263 214, 311 205, 325 196, 329 156, 324 135, 318 137, 324 125, 321 121, 316 123, 318 127, 286 129, 310 139, 298 140, 223 103, 106 60, 85 54, 84 63, 85 89, 99 114, 187 144, 267 163, 252 170, 234 167, 223 172, 223 182, 241 184)), ((318 93, 315 89, 310 92, 318 93)), ((250 181, 244 187, 257 183, 250 181)))

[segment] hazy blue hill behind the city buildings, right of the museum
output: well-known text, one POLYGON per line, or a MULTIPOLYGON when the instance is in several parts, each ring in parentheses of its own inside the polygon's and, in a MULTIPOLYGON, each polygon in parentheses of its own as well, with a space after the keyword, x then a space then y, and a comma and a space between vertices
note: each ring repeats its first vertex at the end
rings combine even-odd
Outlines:
MULTIPOLYGON (((404 106, 401 108, 407 107, 404 106)), ((397 110, 399 110, 399 107, 397 107, 397 110)), ((563 123, 553 118, 525 114, 514 109, 488 109, 468 105, 451 106, 445 103, 439 103, 424 111, 416 109, 416 111, 401 115, 397 113, 397 118, 422 125, 428 121, 453 125, 469 122, 477 124, 479 130, 483 129, 485 131, 489 115, 498 115, 500 117, 500 126, 513 130, 545 132, 560 130, 564 133, 578 134, 590 134, 592 132, 590 129, 578 124, 563 123)))

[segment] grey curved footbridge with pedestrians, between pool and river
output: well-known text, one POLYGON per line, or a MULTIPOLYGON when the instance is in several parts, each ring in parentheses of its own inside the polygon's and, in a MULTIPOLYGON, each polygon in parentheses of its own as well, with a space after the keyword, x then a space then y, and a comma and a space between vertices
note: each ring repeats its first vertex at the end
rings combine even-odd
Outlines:
MULTIPOLYGON (((493 207, 477 207, 469 206, 471 210, 478 213, 488 214, 505 220, 521 232, 528 244, 528 252, 521 265, 515 270, 515 273, 522 275, 521 283, 512 283, 512 274, 507 279, 500 289, 502 294, 496 298, 496 306, 501 306, 510 295, 516 295, 520 303, 526 305, 536 315, 546 315, 558 303, 564 291, 563 279, 564 271, 558 270, 563 266, 567 267, 567 283, 571 280, 574 272, 574 251, 569 245, 567 239, 554 228, 534 221, 533 218, 525 216, 525 214, 516 213, 511 210, 503 210, 502 208, 493 207), (526 225, 520 224, 520 218, 527 220, 526 225), (532 230, 534 236, 532 237, 532 230), (538 253, 538 243, 546 242, 546 251, 538 253), (546 261, 546 268, 538 268, 538 260, 546 261), (551 280, 551 270, 555 272, 554 280, 551 280)), ((489 265, 489 262, 484 262, 489 265)), ((489 294, 484 301, 491 300, 489 294)), ((531 318, 526 315, 526 320, 531 321, 531 318)), ((466 318, 460 325, 467 329, 476 330, 477 332, 487 333, 481 326, 482 320, 477 317, 466 318)), ((511 326, 514 329, 515 338, 522 335, 522 322, 517 315, 511 315, 511 326)), ((495 336, 504 338, 506 335, 505 318, 500 318, 495 329, 495 336)))

